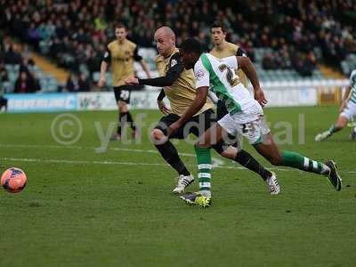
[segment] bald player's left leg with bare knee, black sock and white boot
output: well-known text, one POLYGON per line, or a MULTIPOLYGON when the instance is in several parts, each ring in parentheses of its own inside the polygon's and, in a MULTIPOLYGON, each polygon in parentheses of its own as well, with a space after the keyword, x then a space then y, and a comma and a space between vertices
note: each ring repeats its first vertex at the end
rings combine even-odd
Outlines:
MULTIPOLYGON (((190 174, 187 167, 183 164, 182 159, 178 155, 178 151, 174 145, 166 137, 166 128, 177 121, 179 117, 175 114, 168 114, 162 117, 158 122, 158 125, 150 133, 151 142, 154 143, 156 149, 161 154, 162 158, 166 160, 170 166, 178 173, 178 182, 173 190, 173 193, 180 194, 184 192, 185 188, 194 182, 194 177, 190 174)), ((183 134, 181 130, 178 130, 170 136, 170 138, 182 139, 183 134)))

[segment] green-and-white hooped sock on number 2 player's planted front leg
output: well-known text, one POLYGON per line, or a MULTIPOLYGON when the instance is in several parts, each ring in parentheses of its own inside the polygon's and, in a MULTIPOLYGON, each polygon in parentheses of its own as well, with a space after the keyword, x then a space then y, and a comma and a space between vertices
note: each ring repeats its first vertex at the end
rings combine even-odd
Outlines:
POLYGON ((194 147, 198 161, 199 191, 203 196, 211 197, 211 156, 210 149, 194 147))

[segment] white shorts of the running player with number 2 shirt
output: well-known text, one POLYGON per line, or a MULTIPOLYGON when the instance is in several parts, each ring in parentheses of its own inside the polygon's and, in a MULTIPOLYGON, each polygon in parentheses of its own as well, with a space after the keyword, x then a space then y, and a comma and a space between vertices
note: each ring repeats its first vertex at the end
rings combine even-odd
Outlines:
POLYGON ((243 121, 242 123, 241 114, 238 113, 232 116, 226 114, 217 123, 233 136, 238 134, 245 136, 250 144, 263 142, 263 136, 271 132, 264 121, 263 114, 243 115, 243 121))

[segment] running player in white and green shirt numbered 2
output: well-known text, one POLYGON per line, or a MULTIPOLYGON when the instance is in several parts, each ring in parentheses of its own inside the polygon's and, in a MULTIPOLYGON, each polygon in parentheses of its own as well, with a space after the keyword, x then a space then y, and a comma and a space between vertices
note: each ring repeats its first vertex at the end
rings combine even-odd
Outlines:
POLYGON ((341 190, 341 178, 333 161, 323 164, 292 151, 279 151, 271 131, 263 120, 262 107, 267 103, 260 88, 255 67, 247 57, 231 56, 222 60, 209 53, 202 53, 197 39, 189 38, 180 50, 185 69, 194 69, 196 98, 182 117, 167 129, 168 136, 174 134, 198 109, 206 103, 209 88, 222 100, 229 113, 208 129, 195 145, 198 160, 199 191, 182 196, 183 201, 193 205, 211 204, 211 156, 210 148, 223 140, 228 133, 242 134, 264 158, 274 166, 290 166, 306 172, 327 176, 336 190, 341 190), (254 87, 255 99, 239 82, 234 69, 243 69, 254 87))

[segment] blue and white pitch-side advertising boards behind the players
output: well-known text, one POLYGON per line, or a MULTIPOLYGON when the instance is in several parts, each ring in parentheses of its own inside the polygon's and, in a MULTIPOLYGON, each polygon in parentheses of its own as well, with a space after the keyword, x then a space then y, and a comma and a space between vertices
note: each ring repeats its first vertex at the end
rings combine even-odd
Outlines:
MULTIPOLYGON (((327 80, 316 83, 265 83, 263 91, 269 101, 268 107, 317 106, 338 104, 345 80, 327 80)), ((134 91, 131 109, 157 109, 159 90, 134 91)), ((117 109, 114 93, 8 93, 8 112, 59 112, 80 110, 117 109)))

